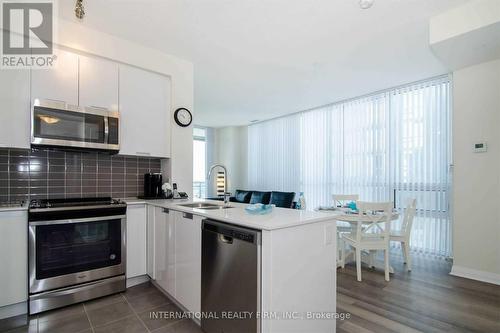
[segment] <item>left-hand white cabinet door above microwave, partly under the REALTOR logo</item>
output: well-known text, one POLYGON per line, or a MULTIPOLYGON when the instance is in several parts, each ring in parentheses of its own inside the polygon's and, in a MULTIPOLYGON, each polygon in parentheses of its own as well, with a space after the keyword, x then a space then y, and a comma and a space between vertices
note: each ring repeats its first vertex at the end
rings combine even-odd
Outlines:
POLYGON ((78 55, 55 49, 56 67, 31 70, 31 100, 35 98, 78 105, 78 55))

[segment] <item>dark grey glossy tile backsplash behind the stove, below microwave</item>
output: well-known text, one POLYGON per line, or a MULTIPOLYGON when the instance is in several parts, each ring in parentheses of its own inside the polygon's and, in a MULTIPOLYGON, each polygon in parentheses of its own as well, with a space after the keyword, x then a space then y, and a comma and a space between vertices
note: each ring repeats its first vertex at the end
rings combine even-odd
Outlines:
POLYGON ((159 158, 53 150, 0 149, 0 202, 74 197, 136 197, 159 158))

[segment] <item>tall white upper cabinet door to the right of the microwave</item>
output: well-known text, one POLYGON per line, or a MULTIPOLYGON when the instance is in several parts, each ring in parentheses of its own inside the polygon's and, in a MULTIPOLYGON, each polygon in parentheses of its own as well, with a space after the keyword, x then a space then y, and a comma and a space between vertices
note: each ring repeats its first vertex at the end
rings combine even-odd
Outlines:
POLYGON ((120 154, 170 157, 170 78, 120 65, 120 154))

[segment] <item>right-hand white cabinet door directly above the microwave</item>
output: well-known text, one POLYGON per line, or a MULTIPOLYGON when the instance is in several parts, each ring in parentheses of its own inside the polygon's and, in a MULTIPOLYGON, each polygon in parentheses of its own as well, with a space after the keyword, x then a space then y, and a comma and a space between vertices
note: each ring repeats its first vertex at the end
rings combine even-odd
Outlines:
POLYGON ((118 64, 80 56, 79 105, 118 111, 118 64))

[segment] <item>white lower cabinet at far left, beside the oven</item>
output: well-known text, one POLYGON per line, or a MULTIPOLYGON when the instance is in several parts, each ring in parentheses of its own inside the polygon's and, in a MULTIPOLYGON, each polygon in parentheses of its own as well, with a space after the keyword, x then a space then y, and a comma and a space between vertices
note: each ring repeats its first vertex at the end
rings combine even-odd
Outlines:
POLYGON ((0 212, 0 307, 28 299, 28 213, 0 212))

